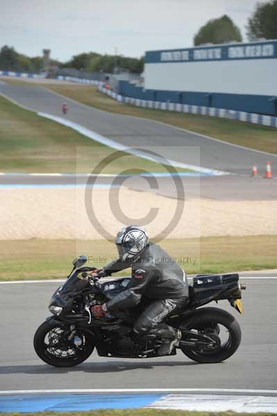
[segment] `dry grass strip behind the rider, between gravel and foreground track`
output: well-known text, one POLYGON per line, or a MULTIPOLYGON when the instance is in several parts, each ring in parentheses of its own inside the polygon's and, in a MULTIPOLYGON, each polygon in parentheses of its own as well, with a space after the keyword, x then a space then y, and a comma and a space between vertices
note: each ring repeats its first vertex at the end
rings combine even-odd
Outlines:
MULTIPOLYGON (((189 274, 277 268, 277 236, 166 239, 160 245, 189 274)), ((0 253, 2 281, 65 278, 78 254, 96 268, 117 257, 115 244, 106 240, 2 240, 0 253)))

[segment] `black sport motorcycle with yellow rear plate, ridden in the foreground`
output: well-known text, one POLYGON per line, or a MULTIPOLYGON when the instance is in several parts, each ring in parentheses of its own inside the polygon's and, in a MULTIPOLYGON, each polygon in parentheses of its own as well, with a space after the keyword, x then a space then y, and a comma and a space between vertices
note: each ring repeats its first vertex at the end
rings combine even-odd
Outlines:
MULTIPOLYGON (((80 256, 62 286, 53 294, 47 318, 35 332, 37 355, 56 367, 72 367, 83 363, 94 348, 99 356, 117 358, 153 358, 162 340, 153 334, 136 338, 133 323, 142 312, 143 302, 133 309, 94 319, 91 307, 103 304, 126 290, 130 277, 99 279, 83 267, 80 256)), ((190 284, 190 303, 185 309, 166 318, 171 327, 180 329, 182 338, 177 348, 199 363, 219 363, 232 356, 240 345, 241 330, 237 320, 227 311, 200 306, 212 301, 228 300, 242 313, 242 289, 239 275, 198 275, 190 284)), ((176 354, 176 348, 170 355, 176 354)))

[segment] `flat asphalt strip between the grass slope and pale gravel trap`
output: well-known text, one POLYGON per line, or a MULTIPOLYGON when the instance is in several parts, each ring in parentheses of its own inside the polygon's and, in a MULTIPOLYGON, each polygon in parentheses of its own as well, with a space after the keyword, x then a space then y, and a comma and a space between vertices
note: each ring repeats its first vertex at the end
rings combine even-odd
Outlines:
MULTIPOLYGON (((265 180, 262 177, 240 175, 180 177, 187 198, 212 198, 213 200, 276 200, 276 177, 265 180)), ((0 175, 0 187, 49 187, 87 184, 87 175, 0 175)), ((97 184, 111 185, 115 176, 98 177, 97 184)), ((169 198, 176 198, 172 177, 156 177, 158 187, 150 189, 151 178, 126 177, 122 185, 135 191, 151 191, 169 198)))

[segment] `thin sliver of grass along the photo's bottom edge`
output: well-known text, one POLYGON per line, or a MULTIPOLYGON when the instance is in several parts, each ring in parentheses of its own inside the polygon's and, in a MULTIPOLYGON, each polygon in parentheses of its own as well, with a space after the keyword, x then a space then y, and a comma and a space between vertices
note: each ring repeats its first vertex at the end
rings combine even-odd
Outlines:
MULTIPOLYGON (((22 413, 1 413, 1 416, 19 416, 22 413)), ((56 412, 24 413, 24 416, 56 416, 56 412)), ((274 416, 276 413, 237 413, 231 412, 187 412, 185 410, 118 409, 91 410, 89 412, 59 412, 61 416, 274 416)))

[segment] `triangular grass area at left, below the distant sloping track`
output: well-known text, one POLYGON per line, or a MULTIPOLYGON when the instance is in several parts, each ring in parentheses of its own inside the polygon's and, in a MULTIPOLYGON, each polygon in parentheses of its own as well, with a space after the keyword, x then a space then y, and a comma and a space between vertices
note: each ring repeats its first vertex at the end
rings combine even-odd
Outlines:
MULTIPOLYGON (((114 151, 0 96, 1 172, 89 173, 114 151)), ((101 173, 167 172, 161 164, 140 157, 122 152, 118 156, 101 173)))

